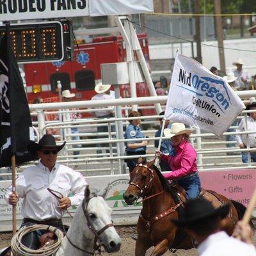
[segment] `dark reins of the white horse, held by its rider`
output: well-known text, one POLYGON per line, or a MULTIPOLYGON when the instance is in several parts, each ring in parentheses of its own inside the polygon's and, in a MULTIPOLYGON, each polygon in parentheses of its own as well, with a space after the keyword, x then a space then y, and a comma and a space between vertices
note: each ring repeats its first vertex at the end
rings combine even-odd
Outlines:
MULTIPOLYGON (((63 198, 63 195, 60 193, 60 192, 58 192, 58 191, 55 191, 55 190, 53 190, 53 189, 51 189, 51 188, 47 188, 47 190, 52 194, 52 195, 54 195, 54 196, 56 196, 56 198, 58 198, 58 199, 61 199, 61 198, 63 198)), ((95 195, 96 196, 96 195, 95 195)), ((79 248, 76 244, 74 244, 74 243, 72 243, 72 241, 70 240, 70 238, 67 236, 67 232, 65 231, 65 228, 63 227, 63 231, 64 231, 64 233, 65 233, 65 236, 67 237, 67 239, 68 239, 68 242, 74 247, 74 248, 76 248, 77 250, 80 250, 81 252, 85 252, 85 253, 88 253, 88 254, 90 254, 90 255, 95 255, 95 252, 96 251, 98 251, 99 253, 101 253, 101 246, 102 246, 102 243, 101 243, 101 241, 100 241, 100 239, 99 239, 99 236, 100 236, 100 234, 102 234, 107 228, 109 228, 109 227, 113 227, 114 225, 113 225, 113 223, 109 223, 109 224, 107 224, 107 225, 105 225, 103 228, 100 228, 100 230, 99 231, 97 231, 94 227, 93 227, 93 225, 92 225, 92 223, 90 222, 90 218, 88 218, 88 213, 86 212, 86 210, 87 210, 87 206, 88 206, 88 204, 86 205, 86 207, 85 207, 85 203, 84 203, 84 200, 83 200, 83 203, 82 203, 82 209, 83 209, 83 212, 84 212, 84 216, 85 216, 85 218, 86 218, 86 221, 87 221, 87 223, 88 223, 88 228, 90 228, 90 230, 92 230, 92 232, 93 232, 93 234, 95 235, 95 237, 94 237, 94 242, 93 242, 93 252, 89 252, 89 251, 86 251, 86 250, 84 250, 84 249, 82 249, 82 248, 79 248), (99 244, 97 244, 97 241, 99 240, 99 244)), ((67 210, 66 210, 67 211, 67 210)), ((68 211, 67 211, 68 212, 68 211)), ((70 213, 68 212, 68 214, 70 215, 70 213)), ((70 215, 71 216, 71 215, 70 215)), ((72 216, 71 216, 72 217, 72 216)), ((62 221, 61 221, 62 222, 62 221)), ((62 224, 63 225, 63 224, 62 224)))

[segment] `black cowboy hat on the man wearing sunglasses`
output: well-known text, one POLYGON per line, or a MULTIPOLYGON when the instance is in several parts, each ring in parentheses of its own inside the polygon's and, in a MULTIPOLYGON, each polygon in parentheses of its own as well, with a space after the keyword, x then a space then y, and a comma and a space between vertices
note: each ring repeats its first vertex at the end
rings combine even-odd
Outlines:
POLYGON ((32 156, 37 155, 37 151, 43 149, 47 150, 47 148, 55 148, 56 151, 59 152, 65 146, 65 144, 66 141, 64 141, 62 145, 58 146, 56 145, 54 136, 52 136, 51 134, 44 134, 44 136, 42 136, 38 143, 36 143, 35 141, 29 143, 28 152, 32 156))

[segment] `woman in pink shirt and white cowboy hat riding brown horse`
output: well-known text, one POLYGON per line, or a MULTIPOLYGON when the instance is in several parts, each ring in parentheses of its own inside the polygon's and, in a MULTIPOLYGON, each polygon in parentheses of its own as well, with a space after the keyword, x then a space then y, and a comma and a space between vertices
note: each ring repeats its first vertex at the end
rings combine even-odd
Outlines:
POLYGON ((200 178, 196 165, 196 151, 189 143, 191 129, 184 124, 173 123, 171 129, 164 129, 164 136, 171 139, 173 150, 169 156, 156 150, 156 156, 170 165, 172 172, 165 173, 168 180, 175 180, 187 193, 187 198, 196 198, 201 189, 200 178))

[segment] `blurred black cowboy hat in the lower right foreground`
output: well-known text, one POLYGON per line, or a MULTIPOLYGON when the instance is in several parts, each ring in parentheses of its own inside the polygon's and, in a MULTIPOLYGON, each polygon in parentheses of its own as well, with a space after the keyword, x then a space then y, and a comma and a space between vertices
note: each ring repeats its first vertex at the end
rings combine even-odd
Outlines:
POLYGON ((185 203, 183 218, 172 221, 177 226, 187 226, 212 216, 219 216, 221 219, 223 219, 225 216, 227 216, 228 211, 228 204, 224 204, 223 207, 215 209, 209 201, 200 196, 196 199, 190 199, 185 203))

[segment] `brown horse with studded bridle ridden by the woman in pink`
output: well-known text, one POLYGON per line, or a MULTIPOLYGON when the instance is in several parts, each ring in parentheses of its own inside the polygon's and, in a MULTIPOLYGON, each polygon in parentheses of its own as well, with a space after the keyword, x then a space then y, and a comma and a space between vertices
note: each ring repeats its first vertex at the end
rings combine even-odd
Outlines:
MULTIPOLYGON (((182 214, 182 191, 178 191, 180 196, 177 196, 175 187, 168 185, 168 180, 154 166, 154 161, 143 164, 142 158, 138 159, 138 164, 131 172, 129 187, 124 193, 124 200, 128 205, 138 202, 139 198, 143 202, 137 223, 136 256, 145 255, 151 246, 155 246, 151 254, 154 256, 163 255, 168 249, 193 247, 191 237, 171 221, 182 214)), ((243 216, 246 209, 244 205, 231 202, 214 191, 205 191, 204 196, 214 207, 230 204, 228 216, 221 221, 221 229, 231 235, 237 220, 243 216)))

